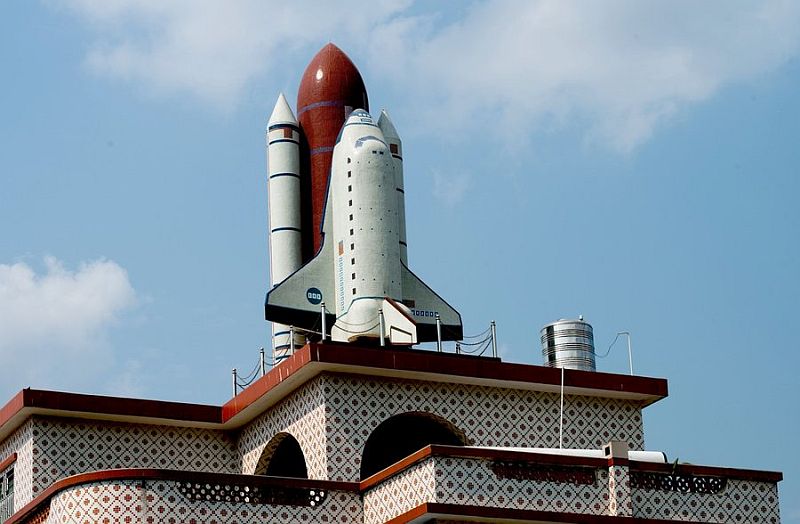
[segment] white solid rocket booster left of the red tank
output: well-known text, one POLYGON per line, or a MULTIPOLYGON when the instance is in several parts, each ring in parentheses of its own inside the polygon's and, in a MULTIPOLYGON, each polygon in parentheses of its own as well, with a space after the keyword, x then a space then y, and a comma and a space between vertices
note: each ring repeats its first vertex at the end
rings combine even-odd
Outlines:
MULTIPOLYGON (((294 273, 303 262, 300 126, 282 93, 267 124, 267 150, 270 280, 272 287, 275 287, 294 273)), ((273 323, 272 347, 276 363, 289 356, 289 337, 288 326, 273 323)))

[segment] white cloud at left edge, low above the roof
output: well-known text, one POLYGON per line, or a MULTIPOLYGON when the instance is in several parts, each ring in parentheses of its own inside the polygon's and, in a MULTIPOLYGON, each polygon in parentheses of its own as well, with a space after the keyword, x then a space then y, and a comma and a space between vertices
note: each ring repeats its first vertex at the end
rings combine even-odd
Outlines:
POLYGON ((111 360, 105 335, 136 303, 127 272, 97 260, 70 271, 55 258, 37 273, 0 264, 0 383, 76 384, 111 360))

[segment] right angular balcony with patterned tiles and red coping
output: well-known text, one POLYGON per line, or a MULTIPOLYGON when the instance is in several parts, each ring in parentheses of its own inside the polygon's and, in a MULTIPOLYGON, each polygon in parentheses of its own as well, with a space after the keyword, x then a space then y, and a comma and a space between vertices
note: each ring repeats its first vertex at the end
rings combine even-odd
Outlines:
POLYGON ((364 522, 778 523, 780 473, 428 446, 361 483, 364 522), (393 520, 396 519, 396 520, 393 520), (634 520, 635 522, 635 520, 634 520))

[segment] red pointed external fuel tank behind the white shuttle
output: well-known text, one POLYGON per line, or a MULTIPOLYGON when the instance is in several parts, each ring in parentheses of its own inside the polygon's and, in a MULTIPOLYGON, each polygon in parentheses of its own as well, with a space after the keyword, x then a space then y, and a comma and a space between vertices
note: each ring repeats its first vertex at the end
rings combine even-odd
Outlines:
POLYGON ((311 59, 297 93, 297 117, 305 139, 301 153, 307 181, 305 213, 311 226, 304 228, 304 261, 320 248, 333 147, 339 130, 354 109, 369 111, 364 80, 350 58, 328 44, 311 59))

